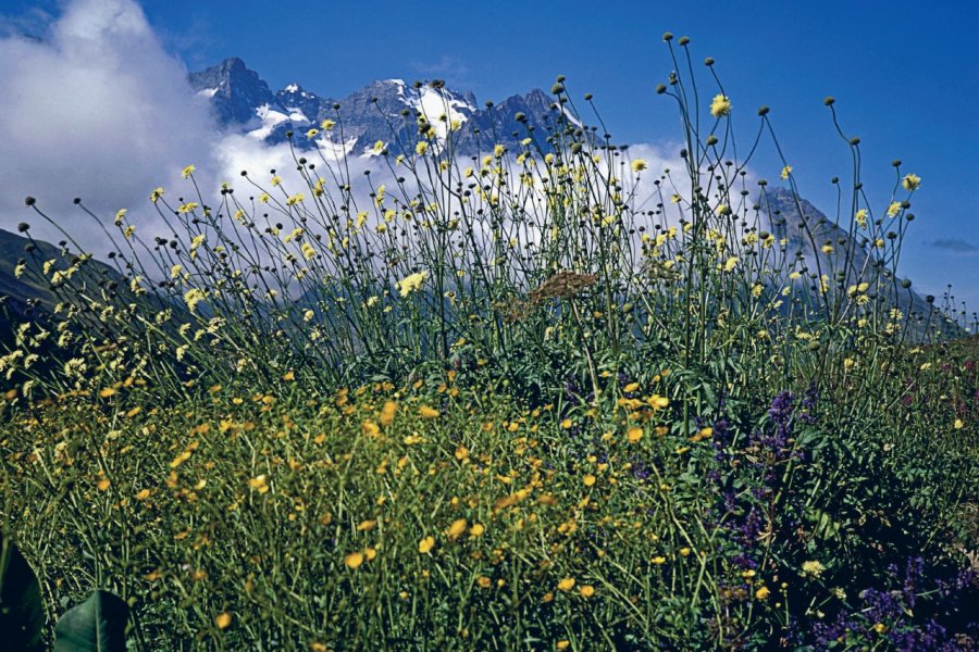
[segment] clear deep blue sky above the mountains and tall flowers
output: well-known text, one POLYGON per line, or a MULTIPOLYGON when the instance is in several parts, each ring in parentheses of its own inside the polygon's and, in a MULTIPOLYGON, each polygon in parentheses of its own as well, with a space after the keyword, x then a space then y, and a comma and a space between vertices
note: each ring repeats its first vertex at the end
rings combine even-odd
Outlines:
MULTIPOLYGON (((0 0, 0 28, 44 37, 63 2, 0 0)), ((665 30, 691 37, 694 61, 716 59, 747 137, 771 106, 803 196, 830 213, 830 177, 850 154, 823 106, 837 98, 859 136, 871 200, 885 206, 902 172, 924 179, 904 273, 922 293, 947 283, 979 306, 979 211, 969 190, 979 162, 979 2, 931 7, 904 0, 844 2, 494 3, 168 0, 141 2, 163 48, 189 70, 226 57, 281 88, 298 82, 343 98, 373 79, 439 77, 482 102, 568 76, 572 95, 595 95, 620 142, 674 143, 679 120, 655 95, 671 68, 665 30)), ((133 52, 139 57, 139 52, 133 52)), ((712 89, 709 89, 712 91, 712 89)), ((776 179, 780 166, 754 165, 776 179)))

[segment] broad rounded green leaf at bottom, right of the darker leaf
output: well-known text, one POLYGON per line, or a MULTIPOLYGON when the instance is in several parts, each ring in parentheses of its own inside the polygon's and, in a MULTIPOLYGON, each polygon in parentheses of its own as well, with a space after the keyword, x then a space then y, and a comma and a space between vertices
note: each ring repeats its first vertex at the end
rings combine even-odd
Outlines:
POLYGON ((54 652, 124 652, 128 617, 121 598, 97 589, 58 620, 54 652))

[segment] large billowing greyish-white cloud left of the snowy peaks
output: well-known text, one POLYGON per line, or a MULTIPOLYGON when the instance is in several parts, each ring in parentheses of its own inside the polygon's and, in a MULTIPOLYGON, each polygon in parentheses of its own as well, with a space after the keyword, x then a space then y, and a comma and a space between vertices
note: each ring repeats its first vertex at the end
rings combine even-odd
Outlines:
POLYGON ((107 220, 156 217, 148 201, 181 168, 210 162, 214 126, 183 64, 171 57, 132 0, 73 0, 41 39, 0 38, 0 227, 28 221, 59 240, 24 197, 83 244, 102 244, 72 205, 107 220))

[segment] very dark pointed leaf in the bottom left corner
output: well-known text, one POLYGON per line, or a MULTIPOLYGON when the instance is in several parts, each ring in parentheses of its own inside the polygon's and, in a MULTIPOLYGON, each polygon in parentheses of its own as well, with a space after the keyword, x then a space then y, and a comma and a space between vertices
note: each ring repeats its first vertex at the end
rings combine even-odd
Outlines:
POLYGON ((42 650, 40 585, 24 555, 0 535, 0 641, 7 650, 42 650))

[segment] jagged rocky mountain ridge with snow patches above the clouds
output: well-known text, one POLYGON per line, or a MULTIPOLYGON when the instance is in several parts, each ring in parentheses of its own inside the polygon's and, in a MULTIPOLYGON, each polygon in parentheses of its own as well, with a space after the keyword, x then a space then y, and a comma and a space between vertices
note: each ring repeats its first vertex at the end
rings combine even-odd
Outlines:
POLYGON ((335 100, 299 84, 273 92, 240 59, 193 73, 190 84, 210 99, 222 128, 270 145, 285 142, 292 131, 297 147, 319 147, 333 158, 373 155, 379 141, 395 154, 412 149, 419 140, 420 118, 434 131, 430 140, 434 147, 446 147, 450 140, 458 155, 485 153, 497 143, 513 149, 528 129, 542 148, 549 149, 548 129, 581 127, 556 98, 540 89, 480 108, 472 92, 451 90, 438 80, 386 79, 335 100), (518 114, 525 116, 523 124, 518 114), (324 129, 324 121, 335 124, 324 129), (307 136, 310 129, 318 131, 312 138, 307 136))

